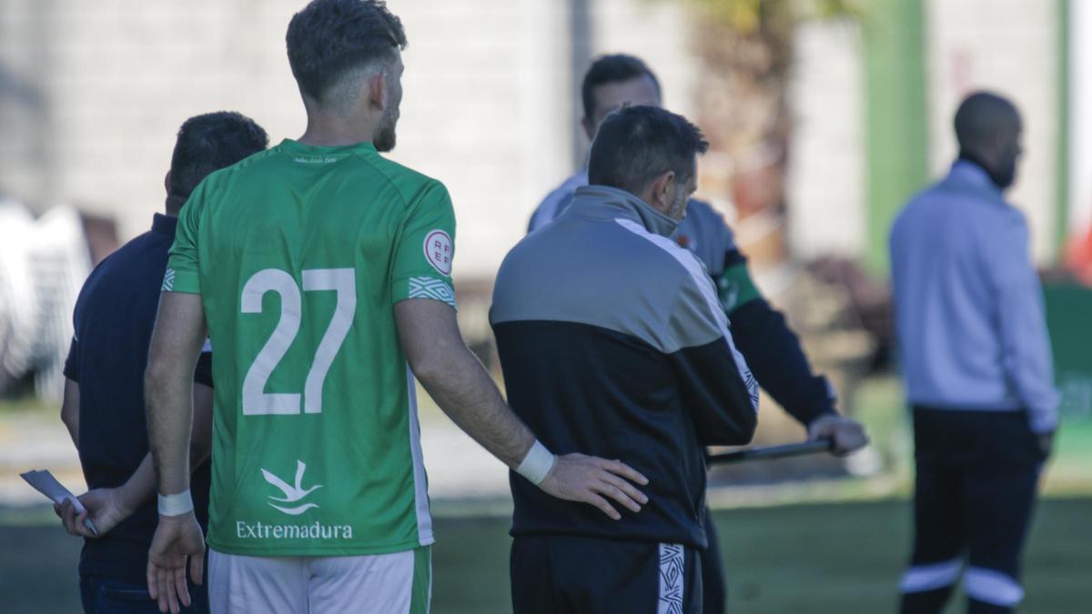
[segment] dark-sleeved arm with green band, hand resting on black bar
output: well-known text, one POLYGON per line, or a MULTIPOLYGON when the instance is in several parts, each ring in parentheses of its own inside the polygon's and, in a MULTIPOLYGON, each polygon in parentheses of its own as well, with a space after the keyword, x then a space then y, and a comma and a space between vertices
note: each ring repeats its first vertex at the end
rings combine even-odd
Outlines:
POLYGON ((734 246, 725 255, 717 291, 732 336, 759 386, 808 429, 809 439, 829 438, 840 454, 864 447, 864 427, 838 414, 830 382, 811 371, 799 338, 762 297, 747 259, 734 246))

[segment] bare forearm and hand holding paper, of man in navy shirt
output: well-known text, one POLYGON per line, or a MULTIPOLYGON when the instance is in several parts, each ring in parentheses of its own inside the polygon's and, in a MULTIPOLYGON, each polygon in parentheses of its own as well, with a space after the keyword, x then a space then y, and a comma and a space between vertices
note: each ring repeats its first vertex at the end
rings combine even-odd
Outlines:
MULTIPOLYGON (((193 436, 190 441, 190 473, 201 467, 212 454, 212 400, 213 390, 206 385, 193 385, 193 436)), ((98 539, 133 515, 155 495, 155 465, 152 453, 144 456, 136 471, 124 484, 116 488, 95 488, 80 495, 86 511, 76 513, 70 501, 58 508, 64 529, 73 535, 98 539), (90 518, 97 534, 84 524, 90 518)))

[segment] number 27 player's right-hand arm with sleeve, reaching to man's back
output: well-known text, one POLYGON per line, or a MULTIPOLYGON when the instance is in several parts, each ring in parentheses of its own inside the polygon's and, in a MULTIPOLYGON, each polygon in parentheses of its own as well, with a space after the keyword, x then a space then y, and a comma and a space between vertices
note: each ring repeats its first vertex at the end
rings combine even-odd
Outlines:
POLYGON ((625 463, 583 454, 556 457, 505 403, 500 391, 466 347, 455 321, 451 263, 455 213, 438 181, 411 197, 397 234, 391 296, 402 351, 414 375, 451 420, 517 473, 549 495, 620 515, 645 503, 631 482, 648 480, 625 463))

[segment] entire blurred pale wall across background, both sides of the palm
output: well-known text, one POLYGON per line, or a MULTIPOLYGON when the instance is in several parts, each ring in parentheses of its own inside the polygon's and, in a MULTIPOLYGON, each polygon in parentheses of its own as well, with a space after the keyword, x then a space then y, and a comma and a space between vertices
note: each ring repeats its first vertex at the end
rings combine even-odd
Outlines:
MULTIPOLYGON (((933 174, 954 155, 950 121, 960 96, 974 87, 1011 94, 1028 125, 1028 154, 1011 196, 1028 211, 1036 255, 1046 260, 1057 217, 1057 3, 922 2, 928 97, 922 130, 933 174)), ((0 0, 0 191, 38 212, 67 202, 114 216, 128 238, 162 206, 174 133, 187 117, 237 109, 261 122, 274 143, 298 137, 304 114, 284 31, 302 5, 0 0)), ((582 164, 578 91, 591 57, 645 58, 663 81, 667 107, 684 115, 692 114, 701 87, 681 2, 391 0, 390 7, 410 37, 392 157, 449 186, 461 278, 491 279, 541 197, 582 164)), ((866 237, 886 233, 868 223, 859 38, 845 22, 808 22, 797 36, 787 186, 797 257, 859 257, 866 237)))

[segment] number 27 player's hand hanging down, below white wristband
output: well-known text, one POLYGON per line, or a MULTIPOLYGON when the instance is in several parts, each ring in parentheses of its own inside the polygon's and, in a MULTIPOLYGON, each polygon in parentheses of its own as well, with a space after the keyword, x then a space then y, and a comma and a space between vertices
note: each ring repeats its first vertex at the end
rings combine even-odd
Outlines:
POLYGON ((152 536, 147 551, 147 592, 159 602, 159 612, 178 614, 178 603, 190 604, 186 588, 186 559, 189 558, 190 578, 202 583, 204 563, 204 535, 193 512, 180 516, 159 516, 159 526, 152 536))

